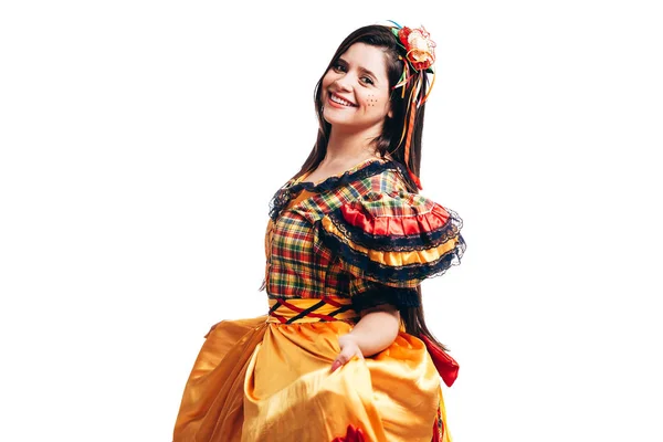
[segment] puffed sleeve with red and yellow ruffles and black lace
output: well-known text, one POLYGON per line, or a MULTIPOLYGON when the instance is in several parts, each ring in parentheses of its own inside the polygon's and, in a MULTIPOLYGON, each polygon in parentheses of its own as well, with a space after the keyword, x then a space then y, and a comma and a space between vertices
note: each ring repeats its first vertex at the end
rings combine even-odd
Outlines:
POLYGON ((417 306, 418 285, 460 263, 462 220, 420 194, 369 193, 320 220, 320 239, 351 275, 359 309, 417 306))

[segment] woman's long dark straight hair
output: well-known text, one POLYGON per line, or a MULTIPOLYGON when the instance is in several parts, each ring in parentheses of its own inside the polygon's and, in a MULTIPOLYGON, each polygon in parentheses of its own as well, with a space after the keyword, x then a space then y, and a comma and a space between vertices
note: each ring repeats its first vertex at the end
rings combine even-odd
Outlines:
MULTIPOLYGON (((304 161, 302 169, 293 177, 298 178, 304 173, 315 170, 320 161, 327 154, 327 144, 329 141, 329 134, 332 131, 332 125, 323 117, 323 99, 322 99, 322 84, 323 78, 327 72, 336 64, 338 59, 355 43, 366 43, 376 48, 380 48, 385 52, 385 59, 387 61, 387 75, 389 77, 389 87, 391 90, 390 103, 391 103, 391 118, 385 117, 382 125, 382 134, 373 139, 376 152, 381 157, 390 156, 391 159, 401 166, 406 166, 406 152, 404 146, 406 140, 401 140, 401 134, 406 126, 406 115, 408 106, 410 106, 410 93, 415 82, 415 75, 423 75, 423 85, 428 86, 428 77, 424 72, 414 73, 411 81, 404 86, 406 93, 404 98, 401 98, 402 90, 393 90, 403 73, 403 61, 399 60, 406 56, 406 52, 402 46, 397 42, 396 36, 391 32, 390 27, 371 24, 362 27, 350 33, 338 46, 336 53, 332 57, 329 65, 325 70, 325 73, 320 76, 314 91, 315 112, 318 118, 318 134, 317 140, 313 147, 313 150, 304 161)), ((423 98, 425 95, 427 87, 421 87, 419 91, 418 99, 423 98)), ((419 106, 414 115, 414 126, 412 129, 410 140, 410 152, 408 164, 410 170, 419 176, 421 169, 421 134, 423 131, 423 115, 425 110, 425 103, 419 106)), ((404 183, 408 191, 418 193, 419 189, 414 181, 407 175, 402 173, 404 183)), ((413 336, 425 336, 441 349, 446 350, 446 347, 442 345, 432 333, 428 329, 424 320, 423 304, 421 297, 421 286, 417 287, 417 296, 419 297, 419 307, 404 307, 400 309, 401 320, 404 325, 406 332, 413 336)))

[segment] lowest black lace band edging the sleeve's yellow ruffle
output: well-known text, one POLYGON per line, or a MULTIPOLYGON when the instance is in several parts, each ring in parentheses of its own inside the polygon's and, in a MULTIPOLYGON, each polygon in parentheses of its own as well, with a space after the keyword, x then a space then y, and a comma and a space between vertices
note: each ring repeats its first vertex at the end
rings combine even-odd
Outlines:
POLYGON ((333 253, 340 256, 341 260, 350 265, 359 269, 364 277, 370 277, 381 282, 398 283, 403 281, 423 281, 427 277, 440 276, 452 265, 459 265, 461 263, 461 257, 466 248, 463 236, 459 234, 459 242, 455 248, 435 261, 423 264, 391 266, 370 260, 366 254, 357 252, 338 236, 330 234, 325 229, 320 229, 319 232, 320 239, 333 253))

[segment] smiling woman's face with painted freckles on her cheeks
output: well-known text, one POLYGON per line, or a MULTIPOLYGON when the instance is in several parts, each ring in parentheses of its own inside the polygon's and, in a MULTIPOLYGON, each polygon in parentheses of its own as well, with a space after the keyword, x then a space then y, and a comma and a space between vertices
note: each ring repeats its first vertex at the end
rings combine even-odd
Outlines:
POLYGON ((382 130, 391 116, 387 60, 380 48, 352 44, 327 71, 322 83, 323 116, 344 131, 382 130))

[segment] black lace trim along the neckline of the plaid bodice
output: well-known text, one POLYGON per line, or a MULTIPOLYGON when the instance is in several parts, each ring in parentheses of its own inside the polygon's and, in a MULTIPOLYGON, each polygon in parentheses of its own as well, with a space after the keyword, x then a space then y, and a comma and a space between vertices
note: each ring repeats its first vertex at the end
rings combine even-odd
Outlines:
MULTIPOLYGON (((399 165, 393 161, 381 162, 380 160, 376 160, 370 162, 368 166, 365 166, 354 172, 349 170, 341 176, 338 177, 329 177, 323 182, 318 185, 314 185, 313 182, 297 182, 294 186, 290 186, 290 182, 284 187, 278 189, 272 201, 270 202, 270 218, 273 221, 276 221, 283 209, 287 206, 290 200, 293 199, 296 194, 298 194, 302 190, 307 191, 316 191, 316 192, 326 192, 329 190, 334 190, 340 186, 349 185, 350 182, 361 180, 368 177, 372 177, 373 175, 378 175, 388 169, 399 169, 399 165)), ((399 169, 400 170, 400 169, 399 169)))

